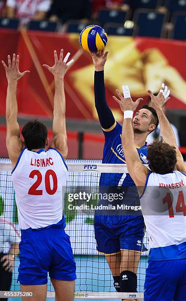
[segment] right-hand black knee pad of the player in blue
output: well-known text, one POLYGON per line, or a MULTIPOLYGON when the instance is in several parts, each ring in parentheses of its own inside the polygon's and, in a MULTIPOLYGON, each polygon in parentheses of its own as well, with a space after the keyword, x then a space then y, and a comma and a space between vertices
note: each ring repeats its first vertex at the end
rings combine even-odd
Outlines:
POLYGON ((137 293, 137 275, 131 271, 122 271, 119 285, 120 292, 137 293))

